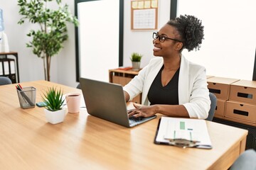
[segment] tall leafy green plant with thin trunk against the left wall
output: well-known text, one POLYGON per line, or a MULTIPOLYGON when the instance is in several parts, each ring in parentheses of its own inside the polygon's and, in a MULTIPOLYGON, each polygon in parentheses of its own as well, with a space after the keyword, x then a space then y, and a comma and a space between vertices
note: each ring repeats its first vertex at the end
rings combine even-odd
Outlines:
POLYGON ((58 54, 63 48, 63 42, 68 40, 67 23, 78 26, 78 18, 70 13, 67 4, 61 4, 61 0, 18 0, 18 6, 18 12, 22 16, 19 24, 28 20, 39 26, 38 30, 30 30, 27 34, 32 40, 26 46, 31 47, 33 54, 43 59, 45 79, 50 81, 50 59, 58 54), (57 9, 49 8, 48 3, 51 1, 57 3, 57 9))

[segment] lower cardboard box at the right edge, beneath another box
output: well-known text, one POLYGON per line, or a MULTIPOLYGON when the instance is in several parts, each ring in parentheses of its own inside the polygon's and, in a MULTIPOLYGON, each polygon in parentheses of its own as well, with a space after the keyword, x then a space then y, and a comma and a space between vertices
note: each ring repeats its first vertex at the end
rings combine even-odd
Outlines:
POLYGON ((248 103, 227 101, 225 117, 256 123, 256 106, 248 103))

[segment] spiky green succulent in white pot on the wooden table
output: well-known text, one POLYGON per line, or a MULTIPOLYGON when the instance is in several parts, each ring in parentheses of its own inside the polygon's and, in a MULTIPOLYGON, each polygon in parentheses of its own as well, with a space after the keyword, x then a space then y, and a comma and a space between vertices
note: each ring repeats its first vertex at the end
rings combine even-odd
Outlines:
POLYGON ((45 94, 43 94, 42 98, 43 102, 46 103, 46 120, 52 124, 62 123, 66 113, 63 108, 63 103, 65 101, 65 98, 63 98, 63 91, 51 87, 45 94))

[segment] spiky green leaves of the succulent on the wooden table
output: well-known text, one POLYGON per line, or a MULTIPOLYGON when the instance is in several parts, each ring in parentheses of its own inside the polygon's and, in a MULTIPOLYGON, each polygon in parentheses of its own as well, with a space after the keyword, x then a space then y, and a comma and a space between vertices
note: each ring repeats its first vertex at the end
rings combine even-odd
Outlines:
POLYGON ((63 108, 65 98, 63 98, 63 91, 51 87, 42 96, 43 102, 46 103, 45 108, 48 111, 58 111, 63 108))

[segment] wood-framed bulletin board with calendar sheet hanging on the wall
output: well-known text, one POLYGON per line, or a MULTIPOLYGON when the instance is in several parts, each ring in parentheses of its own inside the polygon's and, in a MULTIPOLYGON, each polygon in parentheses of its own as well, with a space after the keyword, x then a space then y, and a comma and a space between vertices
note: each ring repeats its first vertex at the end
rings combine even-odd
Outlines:
POLYGON ((131 0, 131 29, 156 30, 159 0, 131 0))

